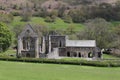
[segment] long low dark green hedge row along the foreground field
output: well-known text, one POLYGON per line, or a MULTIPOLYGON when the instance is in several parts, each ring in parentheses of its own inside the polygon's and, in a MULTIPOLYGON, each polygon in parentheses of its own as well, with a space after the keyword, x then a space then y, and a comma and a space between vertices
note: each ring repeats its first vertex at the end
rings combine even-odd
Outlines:
POLYGON ((120 61, 86 61, 86 60, 62 60, 62 59, 35 59, 35 58, 10 58, 0 57, 3 61, 31 62, 31 63, 52 63, 52 64, 71 64, 71 65, 86 65, 97 67, 120 67, 120 61))

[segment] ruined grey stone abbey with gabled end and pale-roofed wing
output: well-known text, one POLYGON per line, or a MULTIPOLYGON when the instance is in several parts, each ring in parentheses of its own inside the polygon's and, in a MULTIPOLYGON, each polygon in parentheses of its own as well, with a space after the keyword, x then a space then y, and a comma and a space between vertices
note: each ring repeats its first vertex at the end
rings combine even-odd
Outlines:
POLYGON ((17 55, 31 58, 80 57, 98 58, 95 40, 69 40, 68 36, 47 35, 42 37, 39 44, 37 33, 31 25, 18 36, 17 55))

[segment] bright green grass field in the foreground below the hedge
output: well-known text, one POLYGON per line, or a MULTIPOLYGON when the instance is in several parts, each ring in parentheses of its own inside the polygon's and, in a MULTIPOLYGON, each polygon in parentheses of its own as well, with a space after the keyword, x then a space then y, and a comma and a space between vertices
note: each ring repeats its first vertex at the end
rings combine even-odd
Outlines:
POLYGON ((0 61, 0 80, 119 80, 120 68, 0 61))

